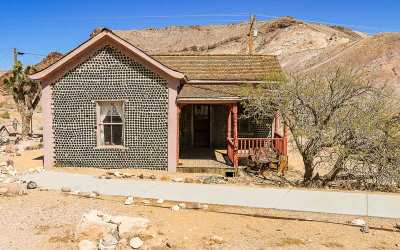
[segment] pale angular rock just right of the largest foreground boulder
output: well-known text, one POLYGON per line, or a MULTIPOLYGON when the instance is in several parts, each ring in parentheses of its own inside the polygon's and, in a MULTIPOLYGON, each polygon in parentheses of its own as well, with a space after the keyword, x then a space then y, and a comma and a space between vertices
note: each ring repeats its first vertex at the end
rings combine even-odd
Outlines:
POLYGON ((148 219, 140 217, 120 216, 121 223, 118 226, 120 238, 136 237, 140 232, 147 230, 148 219))

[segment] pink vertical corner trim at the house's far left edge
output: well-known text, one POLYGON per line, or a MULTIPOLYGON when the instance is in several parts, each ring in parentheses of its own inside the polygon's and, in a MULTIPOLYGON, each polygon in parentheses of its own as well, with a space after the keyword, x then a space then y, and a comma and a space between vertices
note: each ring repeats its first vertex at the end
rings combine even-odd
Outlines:
POLYGON ((51 117, 51 90, 50 84, 42 89, 42 122, 43 122, 43 159, 44 167, 53 167, 53 126, 51 117))

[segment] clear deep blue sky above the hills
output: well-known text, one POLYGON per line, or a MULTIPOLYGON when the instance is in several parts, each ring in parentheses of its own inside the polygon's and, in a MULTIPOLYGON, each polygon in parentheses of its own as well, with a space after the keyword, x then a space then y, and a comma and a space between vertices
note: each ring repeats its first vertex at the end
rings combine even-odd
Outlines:
POLYGON ((400 32, 398 0, 275 1, 0 1, 0 70, 14 63, 12 48, 24 65, 40 62, 53 51, 66 53, 89 38, 96 27, 112 30, 179 25, 241 23, 292 16, 338 24, 361 32, 400 32))

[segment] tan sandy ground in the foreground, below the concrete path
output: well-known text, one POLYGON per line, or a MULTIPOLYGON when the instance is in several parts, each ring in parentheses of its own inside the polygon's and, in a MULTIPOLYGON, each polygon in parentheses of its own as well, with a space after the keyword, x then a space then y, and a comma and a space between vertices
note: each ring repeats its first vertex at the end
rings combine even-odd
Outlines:
MULTIPOLYGON (((126 206, 125 197, 82 198, 59 191, 28 190, 28 195, 0 197, 0 246, 2 249, 74 249, 70 240, 83 213, 92 209, 114 215, 150 219, 150 231, 167 238, 176 249, 393 249, 400 244, 399 232, 370 229, 363 234, 348 224, 354 216, 213 206, 208 210, 177 212, 161 206, 126 206), (226 213, 240 213, 226 214, 226 213), (257 218, 251 215, 266 215, 257 218), (250 216, 246 216, 250 215, 250 216), (273 216, 315 221, 273 219, 273 216), (330 223, 324 221, 329 220, 330 223), (337 224, 335 224, 337 223, 337 224), (223 237, 223 244, 210 237, 223 237)), ((370 227, 393 230, 395 220, 362 218, 370 227)))

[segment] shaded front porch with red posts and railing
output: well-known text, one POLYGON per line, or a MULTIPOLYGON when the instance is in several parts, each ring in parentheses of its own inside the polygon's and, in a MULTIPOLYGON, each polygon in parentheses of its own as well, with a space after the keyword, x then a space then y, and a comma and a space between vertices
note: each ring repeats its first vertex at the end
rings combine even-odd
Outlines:
POLYGON ((278 116, 258 124, 241 118, 241 112, 239 101, 178 103, 177 171, 234 176, 250 149, 287 156, 287 129, 279 133, 278 116))

